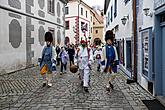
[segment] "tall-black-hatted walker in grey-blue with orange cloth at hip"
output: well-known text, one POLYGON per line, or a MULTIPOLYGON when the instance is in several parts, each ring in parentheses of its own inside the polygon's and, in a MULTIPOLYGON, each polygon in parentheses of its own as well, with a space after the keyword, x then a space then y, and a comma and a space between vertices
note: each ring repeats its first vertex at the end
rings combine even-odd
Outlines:
POLYGON ((56 63, 56 52, 54 46, 52 46, 53 36, 51 32, 45 33, 45 42, 46 46, 44 46, 42 50, 42 57, 39 59, 40 64, 40 73, 43 77, 43 87, 48 84, 48 87, 52 86, 52 67, 55 66, 56 63), (46 73, 48 74, 48 78, 46 78, 46 73))

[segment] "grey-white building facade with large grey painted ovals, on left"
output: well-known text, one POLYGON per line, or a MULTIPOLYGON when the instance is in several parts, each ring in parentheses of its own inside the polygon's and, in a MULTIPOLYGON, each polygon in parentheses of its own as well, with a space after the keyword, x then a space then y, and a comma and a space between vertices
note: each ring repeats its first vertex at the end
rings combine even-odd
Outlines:
POLYGON ((65 0, 0 1, 0 73, 37 64, 44 33, 51 31, 53 44, 64 44, 65 0))

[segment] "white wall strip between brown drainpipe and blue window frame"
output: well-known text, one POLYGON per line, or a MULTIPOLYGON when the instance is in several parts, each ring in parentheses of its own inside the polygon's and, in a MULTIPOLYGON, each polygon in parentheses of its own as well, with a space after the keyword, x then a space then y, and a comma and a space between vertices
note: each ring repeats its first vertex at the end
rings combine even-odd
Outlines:
MULTIPOLYGON (((153 27, 154 26, 154 16, 146 16, 144 14, 143 9, 150 8, 150 12, 154 13, 154 1, 151 0, 143 0, 139 1, 139 13, 137 16, 137 24, 138 24, 138 83, 146 90, 148 90, 148 81, 142 75, 142 38, 139 32, 141 30, 153 27)), ((154 27, 153 27, 154 30, 154 27)))

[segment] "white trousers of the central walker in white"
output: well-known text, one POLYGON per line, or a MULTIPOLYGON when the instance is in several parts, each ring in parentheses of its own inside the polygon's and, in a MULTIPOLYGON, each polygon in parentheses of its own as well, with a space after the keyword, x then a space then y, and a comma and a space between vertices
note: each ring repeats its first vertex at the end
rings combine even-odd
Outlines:
POLYGON ((83 86, 88 87, 89 85, 89 69, 80 69, 81 81, 83 81, 83 86))

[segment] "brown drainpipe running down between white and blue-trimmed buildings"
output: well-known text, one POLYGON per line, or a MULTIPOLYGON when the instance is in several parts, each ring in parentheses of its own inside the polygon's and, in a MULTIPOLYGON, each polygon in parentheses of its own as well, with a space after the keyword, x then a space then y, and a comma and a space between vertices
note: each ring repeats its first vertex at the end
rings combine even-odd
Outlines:
POLYGON ((134 82, 137 82, 137 11, 136 11, 136 2, 137 0, 133 0, 133 50, 134 50, 134 53, 133 53, 133 77, 132 77, 132 74, 131 74, 131 79, 127 79, 127 84, 130 84, 130 83, 134 83, 134 82))

